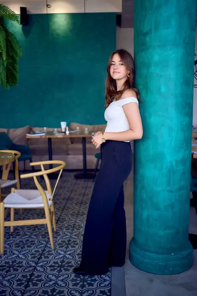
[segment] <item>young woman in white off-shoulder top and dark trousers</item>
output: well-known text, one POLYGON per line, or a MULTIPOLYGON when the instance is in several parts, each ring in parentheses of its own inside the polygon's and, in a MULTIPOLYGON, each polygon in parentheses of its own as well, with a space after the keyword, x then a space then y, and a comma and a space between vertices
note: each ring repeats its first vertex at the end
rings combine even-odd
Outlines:
POLYGON ((123 266, 126 256, 126 217, 123 184, 131 173, 131 140, 143 130, 138 91, 133 87, 133 59, 129 52, 114 51, 108 62, 105 91, 105 132, 92 139, 101 148, 99 170, 83 238, 82 260, 74 272, 98 275, 110 266, 123 266))

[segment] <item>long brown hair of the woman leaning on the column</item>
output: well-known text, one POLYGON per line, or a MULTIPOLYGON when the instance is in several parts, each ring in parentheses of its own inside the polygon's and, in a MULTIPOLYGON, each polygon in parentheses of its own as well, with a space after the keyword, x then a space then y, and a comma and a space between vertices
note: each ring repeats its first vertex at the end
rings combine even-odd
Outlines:
POLYGON ((105 80, 105 109, 111 104, 113 99, 115 101, 120 100, 122 94, 127 89, 134 90, 136 93, 137 99, 139 100, 139 92, 136 88, 134 88, 133 78, 134 78, 134 63, 133 63, 133 58, 131 54, 125 49, 118 49, 112 52, 112 54, 109 57, 109 61, 107 65, 107 77, 105 80), (121 61, 124 63, 127 69, 130 70, 130 77, 128 77, 128 79, 124 82, 123 88, 119 91, 117 91, 116 80, 113 79, 110 75, 111 61, 113 59, 113 56, 116 53, 119 54, 121 61))

